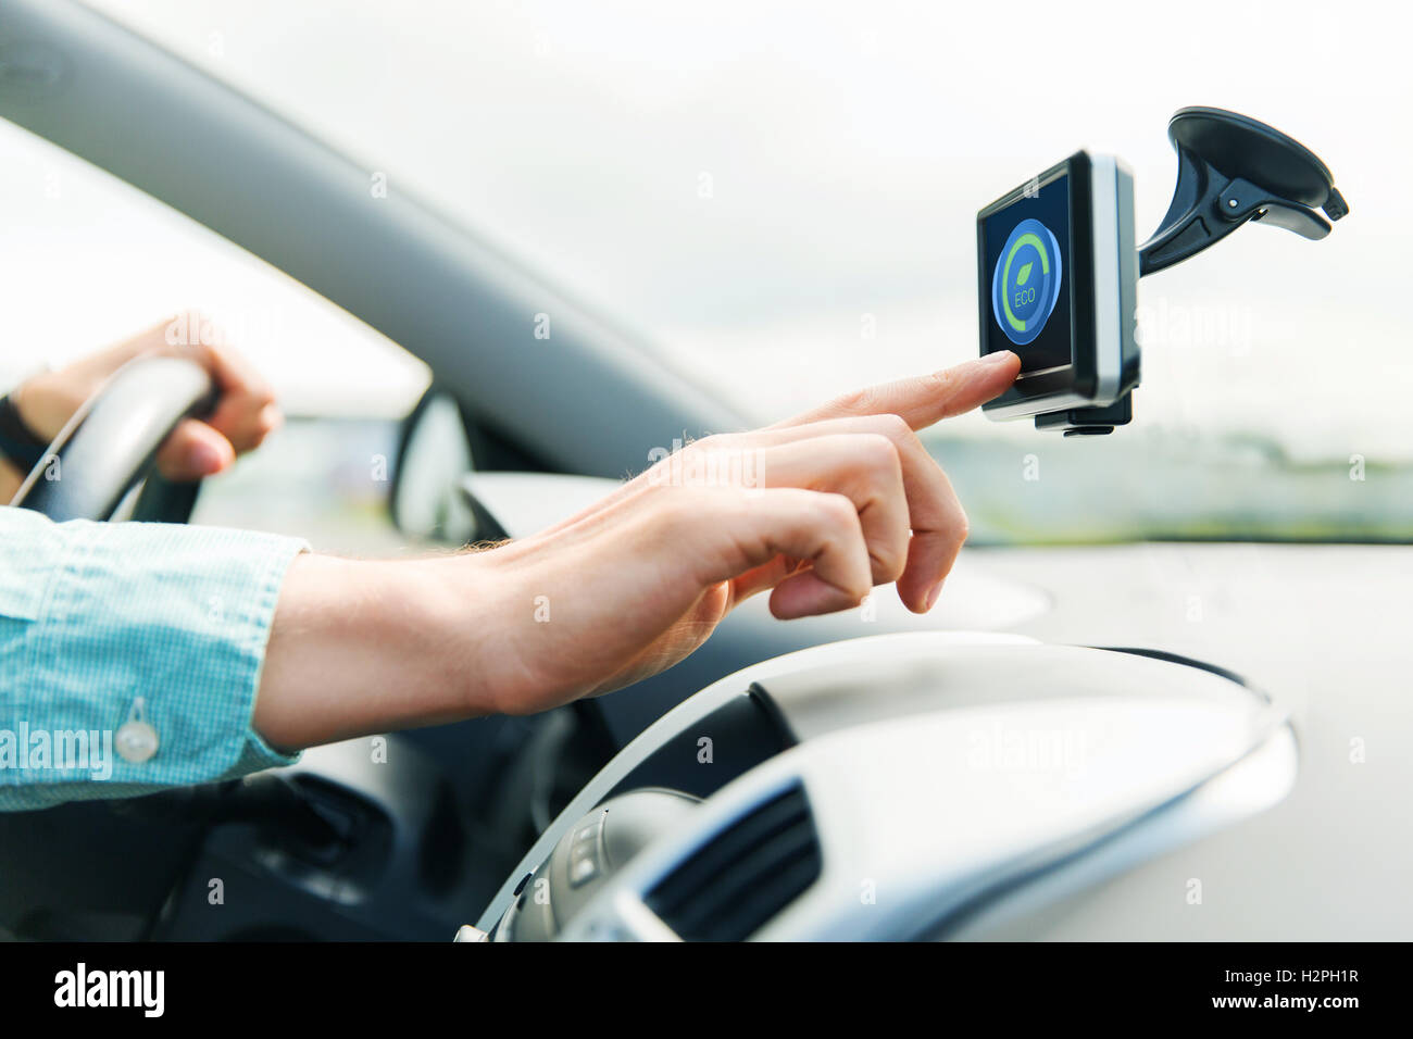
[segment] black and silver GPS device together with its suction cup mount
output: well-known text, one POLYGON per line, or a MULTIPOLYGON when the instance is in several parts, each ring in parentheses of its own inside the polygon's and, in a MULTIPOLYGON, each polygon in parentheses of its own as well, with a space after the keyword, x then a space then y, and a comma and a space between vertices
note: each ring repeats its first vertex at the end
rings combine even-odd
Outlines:
POLYGON ((1112 433, 1132 420, 1139 385, 1140 276, 1248 221, 1320 239, 1349 212, 1314 153, 1255 119, 1187 107, 1169 122, 1169 139, 1177 187, 1142 246, 1133 177, 1113 155, 1077 151, 976 213, 981 352, 1020 356, 1016 382, 983 406, 989 417, 1034 417, 1036 428, 1065 435, 1112 433))

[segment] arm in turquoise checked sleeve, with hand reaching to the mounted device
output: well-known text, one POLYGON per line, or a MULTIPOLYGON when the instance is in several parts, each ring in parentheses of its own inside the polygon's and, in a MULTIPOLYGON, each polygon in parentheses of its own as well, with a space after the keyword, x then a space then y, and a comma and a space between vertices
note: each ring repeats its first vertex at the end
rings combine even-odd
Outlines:
POLYGON ((966 517, 916 431, 1017 368, 992 355, 708 437, 548 530, 442 558, 0 509, 0 810, 608 693, 677 663, 760 592, 788 619, 896 581, 924 612, 966 517), (59 761, 76 734, 86 756, 59 761))

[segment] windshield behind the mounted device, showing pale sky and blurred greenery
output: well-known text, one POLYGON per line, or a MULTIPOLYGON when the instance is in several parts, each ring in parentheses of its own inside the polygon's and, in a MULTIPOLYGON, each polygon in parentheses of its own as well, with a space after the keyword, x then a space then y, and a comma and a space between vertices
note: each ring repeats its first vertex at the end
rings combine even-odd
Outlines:
POLYGON ((1253 45, 1164 66, 1171 11, 1132 3, 93 6, 762 420, 972 356, 975 215, 998 195, 1078 147, 1113 153, 1142 239, 1173 187, 1171 112, 1249 112, 1325 158, 1351 216, 1320 243, 1242 229, 1145 278, 1133 425, 1065 441, 978 414, 934 450, 982 540, 1413 537, 1413 351, 1389 277, 1413 235, 1413 81, 1386 7, 1341 6, 1358 48, 1313 54, 1328 6, 1286 4, 1253 45))

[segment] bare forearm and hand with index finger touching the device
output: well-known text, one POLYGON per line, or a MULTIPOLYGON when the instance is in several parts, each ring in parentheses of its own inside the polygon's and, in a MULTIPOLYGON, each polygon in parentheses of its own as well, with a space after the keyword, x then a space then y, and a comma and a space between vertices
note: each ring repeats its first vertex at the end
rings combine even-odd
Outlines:
POLYGON ((995 397, 1017 369, 1013 353, 991 355, 708 437, 493 550, 414 563, 300 557, 281 589, 256 729, 300 748, 541 711, 670 667, 757 592, 776 616, 797 618, 856 606, 897 581, 909 609, 924 612, 966 517, 916 431, 995 397))

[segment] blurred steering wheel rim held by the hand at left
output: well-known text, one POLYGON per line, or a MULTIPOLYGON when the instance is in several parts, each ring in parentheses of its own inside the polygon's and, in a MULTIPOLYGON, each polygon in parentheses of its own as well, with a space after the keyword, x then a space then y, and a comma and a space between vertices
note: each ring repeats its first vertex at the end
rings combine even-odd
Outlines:
POLYGON ((59 430, 10 505, 57 522, 107 520, 146 478, 133 519, 185 523, 201 482, 172 483, 153 462, 177 424, 209 414, 215 399, 211 373, 195 360, 123 365, 59 430))

